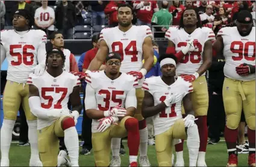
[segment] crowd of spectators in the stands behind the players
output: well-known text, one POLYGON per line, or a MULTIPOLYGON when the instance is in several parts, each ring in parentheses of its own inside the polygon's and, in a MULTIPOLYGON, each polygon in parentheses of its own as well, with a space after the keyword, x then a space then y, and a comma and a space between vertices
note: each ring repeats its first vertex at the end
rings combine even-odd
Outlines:
MULTIPOLYGON (((156 37, 163 37, 168 26, 180 24, 181 13, 193 7, 201 17, 202 25, 215 33, 223 26, 233 24, 239 10, 255 11, 255 1, 2 1, 1 30, 11 28, 11 19, 17 9, 27 9, 35 17, 34 28, 48 35, 58 29, 65 39, 91 38, 106 26, 118 23, 117 7, 128 3, 134 8, 136 25, 154 26, 156 37), (169 11, 169 12, 168 12, 169 11), (75 34, 77 32, 77 34, 75 34), (86 34, 80 36, 80 34, 86 34), (84 33, 83 33, 84 32, 84 33)), ((255 16, 254 16, 255 17, 255 16)))

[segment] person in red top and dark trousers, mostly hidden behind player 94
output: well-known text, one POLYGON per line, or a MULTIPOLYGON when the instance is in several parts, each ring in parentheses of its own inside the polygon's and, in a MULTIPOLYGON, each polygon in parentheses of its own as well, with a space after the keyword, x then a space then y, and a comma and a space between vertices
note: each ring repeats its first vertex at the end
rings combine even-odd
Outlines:
MULTIPOLYGON (((87 68, 90 65, 90 62, 95 57, 98 48, 99 48, 99 34, 93 35, 92 37, 92 45, 93 49, 90 49, 86 52, 84 55, 84 61, 83 61, 83 71, 85 72, 87 68)), ((86 83, 84 83, 84 96, 83 96, 83 102, 86 98, 86 83)), ((90 150, 92 150, 92 119, 87 117, 86 115, 86 109, 83 103, 83 122, 82 122, 82 139, 84 140, 83 144, 83 150, 80 151, 80 154, 87 155, 90 154, 90 150)))

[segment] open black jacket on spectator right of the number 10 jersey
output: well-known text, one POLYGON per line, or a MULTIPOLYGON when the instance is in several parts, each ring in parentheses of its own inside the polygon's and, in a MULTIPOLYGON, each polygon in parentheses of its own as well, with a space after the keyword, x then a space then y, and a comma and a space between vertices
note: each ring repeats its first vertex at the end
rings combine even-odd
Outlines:
MULTIPOLYGON (((62 2, 56 7, 55 10, 55 26, 58 29, 62 29, 63 28, 63 4, 62 2)), ((73 28, 75 26, 76 23, 76 13, 75 13, 75 7, 74 5, 67 1, 67 28, 73 28)))

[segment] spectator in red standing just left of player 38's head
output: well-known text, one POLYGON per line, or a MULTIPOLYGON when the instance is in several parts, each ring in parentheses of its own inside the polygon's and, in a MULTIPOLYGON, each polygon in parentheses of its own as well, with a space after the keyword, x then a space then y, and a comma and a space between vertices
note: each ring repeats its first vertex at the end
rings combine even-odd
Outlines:
POLYGON ((181 14, 183 13, 184 9, 185 7, 181 4, 181 1, 173 1, 173 5, 169 7, 169 12, 172 13, 173 16, 172 25, 180 24, 181 14))

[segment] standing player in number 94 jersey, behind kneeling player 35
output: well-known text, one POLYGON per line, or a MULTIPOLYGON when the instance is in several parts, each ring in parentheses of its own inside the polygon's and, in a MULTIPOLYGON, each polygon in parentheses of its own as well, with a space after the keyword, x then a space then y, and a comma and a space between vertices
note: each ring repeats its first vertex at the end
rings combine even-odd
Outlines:
MULTIPOLYGON (((100 34, 99 50, 89 66, 89 70, 98 70, 105 61, 109 52, 117 52, 121 56, 122 73, 134 75, 139 80, 136 89, 137 110, 134 115, 139 120, 140 129, 140 166, 150 166, 148 151, 148 129, 146 120, 142 117, 142 100, 144 91, 141 89, 145 74, 154 63, 154 51, 152 47, 152 32, 149 26, 134 26, 133 8, 127 4, 121 4, 118 8, 119 25, 114 28, 102 29, 100 34), (142 59, 145 63, 142 63, 142 59)), ((120 139, 112 143, 113 161, 111 166, 120 166, 120 139)))

